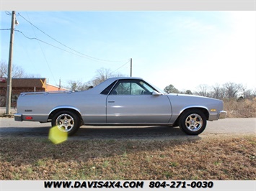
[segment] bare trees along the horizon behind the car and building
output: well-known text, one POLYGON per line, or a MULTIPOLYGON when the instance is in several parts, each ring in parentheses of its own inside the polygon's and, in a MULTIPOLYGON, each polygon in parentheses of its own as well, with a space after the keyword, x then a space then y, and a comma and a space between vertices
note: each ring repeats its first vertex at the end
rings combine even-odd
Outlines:
MULTIPOLYGON (((8 73, 8 65, 6 62, 0 62, 0 78, 7 77, 8 73)), ((107 80, 110 77, 120 77, 124 76, 120 73, 114 73, 112 70, 107 68, 100 68, 96 70, 96 75, 92 80, 89 80, 85 83, 81 82, 81 80, 69 80, 67 85, 63 88, 67 88, 69 90, 88 90, 91 87, 94 87, 103 81, 107 80)), ((12 67, 12 78, 35 78, 35 75, 25 73, 22 67, 13 65, 12 67)), ((216 99, 231 99, 231 98, 247 98, 252 99, 256 97, 256 88, 254 90, 247 88, 241 83, 224 83, 222 85, 206 85, 201 84, 198 85, 197 90, 192 92, 191 90, 180 91, 175 88, 174 85, 170 84, 164 88, 164 91, 167 93, 183 93, 183 94, 193 94, 193 95, 201 95, 209 98, 216 99)))

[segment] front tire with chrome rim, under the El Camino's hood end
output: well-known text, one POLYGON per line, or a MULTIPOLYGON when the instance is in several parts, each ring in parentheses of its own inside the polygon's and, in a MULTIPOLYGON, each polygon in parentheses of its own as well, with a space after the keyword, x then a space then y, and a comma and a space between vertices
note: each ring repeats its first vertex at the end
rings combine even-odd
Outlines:
POLYGON ((206 115, 199 109, 184 111, 180 116, 179 126, 186 134, 201 134, 206 129, 206 115))

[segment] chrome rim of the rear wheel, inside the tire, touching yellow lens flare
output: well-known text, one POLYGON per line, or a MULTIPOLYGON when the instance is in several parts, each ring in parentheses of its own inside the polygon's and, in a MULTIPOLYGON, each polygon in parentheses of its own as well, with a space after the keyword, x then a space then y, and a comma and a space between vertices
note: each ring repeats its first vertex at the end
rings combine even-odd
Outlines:
POLYGON ((67 113, 63 113, 56 118, 56 126, 63 132, 71 131, 74 127, 74 124, 74 118, 67 113))

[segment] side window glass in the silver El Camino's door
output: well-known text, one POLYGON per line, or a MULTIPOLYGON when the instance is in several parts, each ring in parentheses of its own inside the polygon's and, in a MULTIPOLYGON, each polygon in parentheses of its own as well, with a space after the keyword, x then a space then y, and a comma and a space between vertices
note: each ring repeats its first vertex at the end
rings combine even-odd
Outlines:
POLYGON ((151 95, 151 86, 142 80, 120 80, 111 91, 111 95, 151 95))

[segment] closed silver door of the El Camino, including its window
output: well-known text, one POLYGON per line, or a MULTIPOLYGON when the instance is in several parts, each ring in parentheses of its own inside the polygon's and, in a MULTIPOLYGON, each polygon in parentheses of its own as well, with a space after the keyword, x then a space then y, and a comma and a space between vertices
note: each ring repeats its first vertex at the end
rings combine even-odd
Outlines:
POLYGON ((167 124, 172 116, 167 95, 143 80, 119 80, 106 104, 107 124, 167 124))

